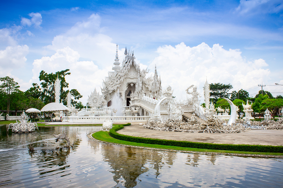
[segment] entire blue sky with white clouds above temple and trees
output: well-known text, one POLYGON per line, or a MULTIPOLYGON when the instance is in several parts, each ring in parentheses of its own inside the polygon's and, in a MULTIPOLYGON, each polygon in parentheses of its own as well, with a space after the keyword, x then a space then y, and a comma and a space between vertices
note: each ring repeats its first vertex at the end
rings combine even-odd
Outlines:
POLYGON ((134 50, 141 67, 153 72, 157 65, 163 88, 171 85, 177 98, 186 98, 191 84, 202 92, 206 78, 250 94, 263 83, 283 95, 283 86, 273 86, 283 84, 279 0, 5 1, 0 7, 0 76, 14 77, 23 91, 40 83, 41 70, 69 68, 70 87, 85 103, 112 69, 118 44, 120 63, 125 47, 134 50))

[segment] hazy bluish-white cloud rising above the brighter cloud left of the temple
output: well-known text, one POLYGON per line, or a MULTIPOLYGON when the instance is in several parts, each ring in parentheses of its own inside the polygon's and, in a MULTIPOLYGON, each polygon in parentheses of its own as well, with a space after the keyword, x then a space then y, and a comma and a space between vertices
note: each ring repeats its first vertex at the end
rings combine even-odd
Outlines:
MULTIPOLYGON (((113 64, 115 59, 116 44, 112 39, 100 33, 100 16, 92 14, 86 21, 77 22, 66 33, 57 35, 52 45, 46 48, 58 50, 69 46, 77 51, 83 59, 93 60, 99 67, 113 64)), ((123 54, 119 50, 119 55, 123 54)))

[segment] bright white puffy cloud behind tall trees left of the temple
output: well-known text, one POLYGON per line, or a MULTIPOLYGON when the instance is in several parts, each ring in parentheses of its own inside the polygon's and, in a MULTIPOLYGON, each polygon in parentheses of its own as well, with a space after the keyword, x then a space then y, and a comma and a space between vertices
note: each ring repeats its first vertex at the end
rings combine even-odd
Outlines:
POLYGON ((48 74, 51 72, 69 69, 71 75, 65 77, 69 83, 69 89, 77 89, 83 98, 80 101, 86 104, 88 95, 102 86, 102 78, 107 76, 108 70, 99 69, 93 61, 80 61, 80 54, 70 47, 56 50, 56 53, 50 57, 42 57, 34 60, 32 69, 33 77, 30 83, 40 83, 39 73, 44 70, 48 74))

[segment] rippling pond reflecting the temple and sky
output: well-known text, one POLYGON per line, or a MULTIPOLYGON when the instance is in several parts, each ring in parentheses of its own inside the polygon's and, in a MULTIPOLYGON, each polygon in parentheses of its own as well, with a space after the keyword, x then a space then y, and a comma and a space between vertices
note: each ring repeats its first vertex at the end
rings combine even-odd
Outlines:
POLYGON ((187 154, 104 144, 96 126, 7 132, 0 125, 0 186, 8 187, 282 187, 283 159, 187 154), (73 147, 58 149, 67 130, 73 147), (29 153, 28 144, 35 151, 29 153))

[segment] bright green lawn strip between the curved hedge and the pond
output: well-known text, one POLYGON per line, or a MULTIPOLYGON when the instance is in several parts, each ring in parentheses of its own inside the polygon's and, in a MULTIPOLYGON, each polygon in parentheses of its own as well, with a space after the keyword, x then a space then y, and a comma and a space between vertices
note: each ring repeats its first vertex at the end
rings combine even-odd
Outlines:
POLYGON ((185 148, 185 147, 177 147, 177 146, 166 146, 166 145, 158 145, 158 144, 142 144, 136 142, 128 142, 123 140, 118 140, 112 138, 108 134, 107 131, 99 131, 92 134, 92 137, 116 144, 124 144, 124 145, 132 145, 132 146, 141 146, 148 148, 159 148, 159 149, 173 149, 173 150, 183 150, 183 151, 196 151, 196 152, 214 152, 214 153, 233 153, 233 154, 257 154, 257 155, 283 155, 283 153, 263 153, 263 152, 244 152, 244 151, 228 151, 228 150, 212 150, 212 149, 197 149, 197 148, 185 148))

